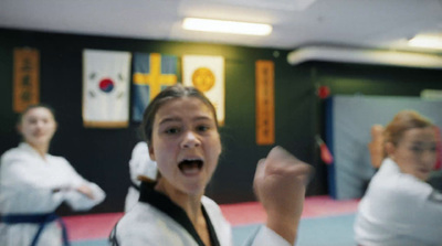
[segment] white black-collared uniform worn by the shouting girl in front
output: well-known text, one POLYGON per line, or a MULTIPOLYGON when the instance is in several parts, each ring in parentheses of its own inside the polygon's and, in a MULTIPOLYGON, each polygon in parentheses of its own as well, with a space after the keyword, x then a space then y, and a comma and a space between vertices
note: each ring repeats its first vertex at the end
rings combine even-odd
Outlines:
MULTIPOLYGON (((232 228, 220 207, 201 200, 212 246, 232 246, 232 228)), ((201 246, 202 240, 186 212, 151 184, 141 184, 140 201, 118 222, 110 235, 113 246, 201 246), (147 188, 149 186, 149 188, 147 188)), ((250 240, 253 246, 290 246, 278 234, 262 226, 250 240)))

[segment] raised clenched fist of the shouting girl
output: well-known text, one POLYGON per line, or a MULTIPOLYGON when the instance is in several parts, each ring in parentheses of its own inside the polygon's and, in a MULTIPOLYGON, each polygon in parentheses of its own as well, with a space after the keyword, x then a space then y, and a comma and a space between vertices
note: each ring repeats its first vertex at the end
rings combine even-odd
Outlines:
POLYGON ((303 212, 305 190, 313 168, 282 147, 274 147, 257 163, 254 191, 267 214, 266 226, 292 245, 303 212))

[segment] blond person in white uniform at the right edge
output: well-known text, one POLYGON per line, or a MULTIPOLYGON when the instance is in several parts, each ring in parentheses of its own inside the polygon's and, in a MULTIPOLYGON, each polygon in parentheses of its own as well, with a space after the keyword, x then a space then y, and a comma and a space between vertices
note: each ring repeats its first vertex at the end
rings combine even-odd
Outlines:
POLYGON ((359 203, 355 236, 362 246, 442 245, 442 194, 428 180, 436 161, 434 125, 413 110, 385 129, 387 157, 359 203))

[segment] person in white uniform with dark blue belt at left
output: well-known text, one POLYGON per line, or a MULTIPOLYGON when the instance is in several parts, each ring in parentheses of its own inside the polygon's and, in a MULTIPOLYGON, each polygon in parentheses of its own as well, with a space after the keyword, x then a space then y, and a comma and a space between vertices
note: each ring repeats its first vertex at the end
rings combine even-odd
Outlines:
POLYGON ((0 245, 69 245, 54 211, 63 202, 76 211, 90 210, 105 193, 66 159, 48 153, 56 130, 51 107, 30 106, 20 116, 18 130, 23 141, 6 151, 0 162, 0 245))

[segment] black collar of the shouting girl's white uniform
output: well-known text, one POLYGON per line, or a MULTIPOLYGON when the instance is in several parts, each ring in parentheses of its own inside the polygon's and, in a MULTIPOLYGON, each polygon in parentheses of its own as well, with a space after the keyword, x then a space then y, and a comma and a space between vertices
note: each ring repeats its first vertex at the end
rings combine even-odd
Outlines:
MULTIPOLYGON (((139 201, 155 206, 162 213, 167 214, 169 217, 173 218, 193 237, 199 246, 204 246, 204 243, 202 243, 185 210, 173 203, 167 195, 157 192, 154 189, 155 184, 156 183, 141 182, 139 201)), ((210 217, 202 204, 201 208, 202 214, 206 218, 206 224, 208 225, 210 243, 212 244, 212 246, 220 246, 217 233, 214 232, 213 225, 210 222, 210 217)))

